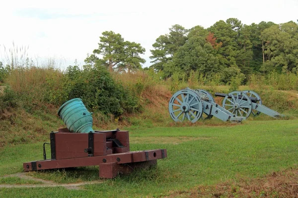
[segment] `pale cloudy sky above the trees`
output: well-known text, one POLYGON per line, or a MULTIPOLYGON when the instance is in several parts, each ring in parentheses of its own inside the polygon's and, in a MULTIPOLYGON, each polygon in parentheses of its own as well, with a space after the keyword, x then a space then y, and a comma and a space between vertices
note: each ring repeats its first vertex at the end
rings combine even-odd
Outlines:
POLYGON ((2 0, 0 60, 14 42, 33 60, 52 58, 65 68, 77 59, 82 65, 101 33, 111 30, 141 43, 146 67, 155 39, 172 25, 208 28, 231 17, 248 25, 297 21, 298 0, 2 0))

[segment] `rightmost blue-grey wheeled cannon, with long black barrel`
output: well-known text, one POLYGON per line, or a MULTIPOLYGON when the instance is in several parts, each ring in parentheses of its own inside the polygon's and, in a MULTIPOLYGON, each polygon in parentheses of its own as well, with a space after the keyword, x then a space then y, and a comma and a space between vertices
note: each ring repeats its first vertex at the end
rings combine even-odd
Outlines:
POLYGON ((264 113, 274 118, 280 118, 284 115, 276 112, 262 104, 261 97, 253 91, 234 91, 229 94, 215 93, 215 96, 224 97, 223 107, 234 115, 249 117, 252 113, 258 116, 264 113))

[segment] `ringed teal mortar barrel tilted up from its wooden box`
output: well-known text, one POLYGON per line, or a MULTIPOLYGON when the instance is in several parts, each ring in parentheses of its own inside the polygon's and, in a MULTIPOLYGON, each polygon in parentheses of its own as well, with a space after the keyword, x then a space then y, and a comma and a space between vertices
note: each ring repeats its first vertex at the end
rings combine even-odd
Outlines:
POLYGON ((58 115, 72 133, 89 133, 92 129, 92 113, 90 113, 81 99, 71 99, 59 108, 58 115))

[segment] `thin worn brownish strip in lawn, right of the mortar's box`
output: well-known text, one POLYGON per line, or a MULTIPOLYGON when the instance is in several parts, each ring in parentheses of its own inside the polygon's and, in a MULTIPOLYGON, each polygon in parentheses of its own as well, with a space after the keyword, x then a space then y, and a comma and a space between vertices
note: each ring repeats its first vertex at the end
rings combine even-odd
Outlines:
POLYGON ((183 142, 194 141, 194 140, 206 140, 209 137, 131 137, 130 143, 149 143, 149 144, 173 144, 178 145, 183 142))

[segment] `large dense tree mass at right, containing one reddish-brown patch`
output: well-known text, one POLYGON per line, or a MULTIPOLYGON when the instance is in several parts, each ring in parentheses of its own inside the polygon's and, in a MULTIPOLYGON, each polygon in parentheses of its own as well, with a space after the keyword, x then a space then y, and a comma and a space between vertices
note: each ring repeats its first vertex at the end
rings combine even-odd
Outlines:
POLYGON ((298 71, 298 24, 293 21, 243 25, 229 18, 207 29, 174 25, 169 30, 156 39, 150 56, 151 67, 163 71, 164 78, 183 72, 188 76, 193 70, 204 76, 219 73, 221 83, 229 83, 240 72, 243 84, 260 72, 298 71))

